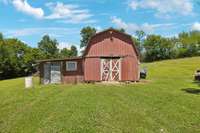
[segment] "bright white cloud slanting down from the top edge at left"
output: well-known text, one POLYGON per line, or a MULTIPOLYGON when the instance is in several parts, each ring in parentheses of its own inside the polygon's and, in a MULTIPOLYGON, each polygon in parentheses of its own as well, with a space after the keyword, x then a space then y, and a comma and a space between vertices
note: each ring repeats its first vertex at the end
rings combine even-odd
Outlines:
POLYGON ((27 0, 13 0, 12 4, 20 12, 32 15, 36 18, 42 18, 44 16, 42 8, 32 7, 27 0))

